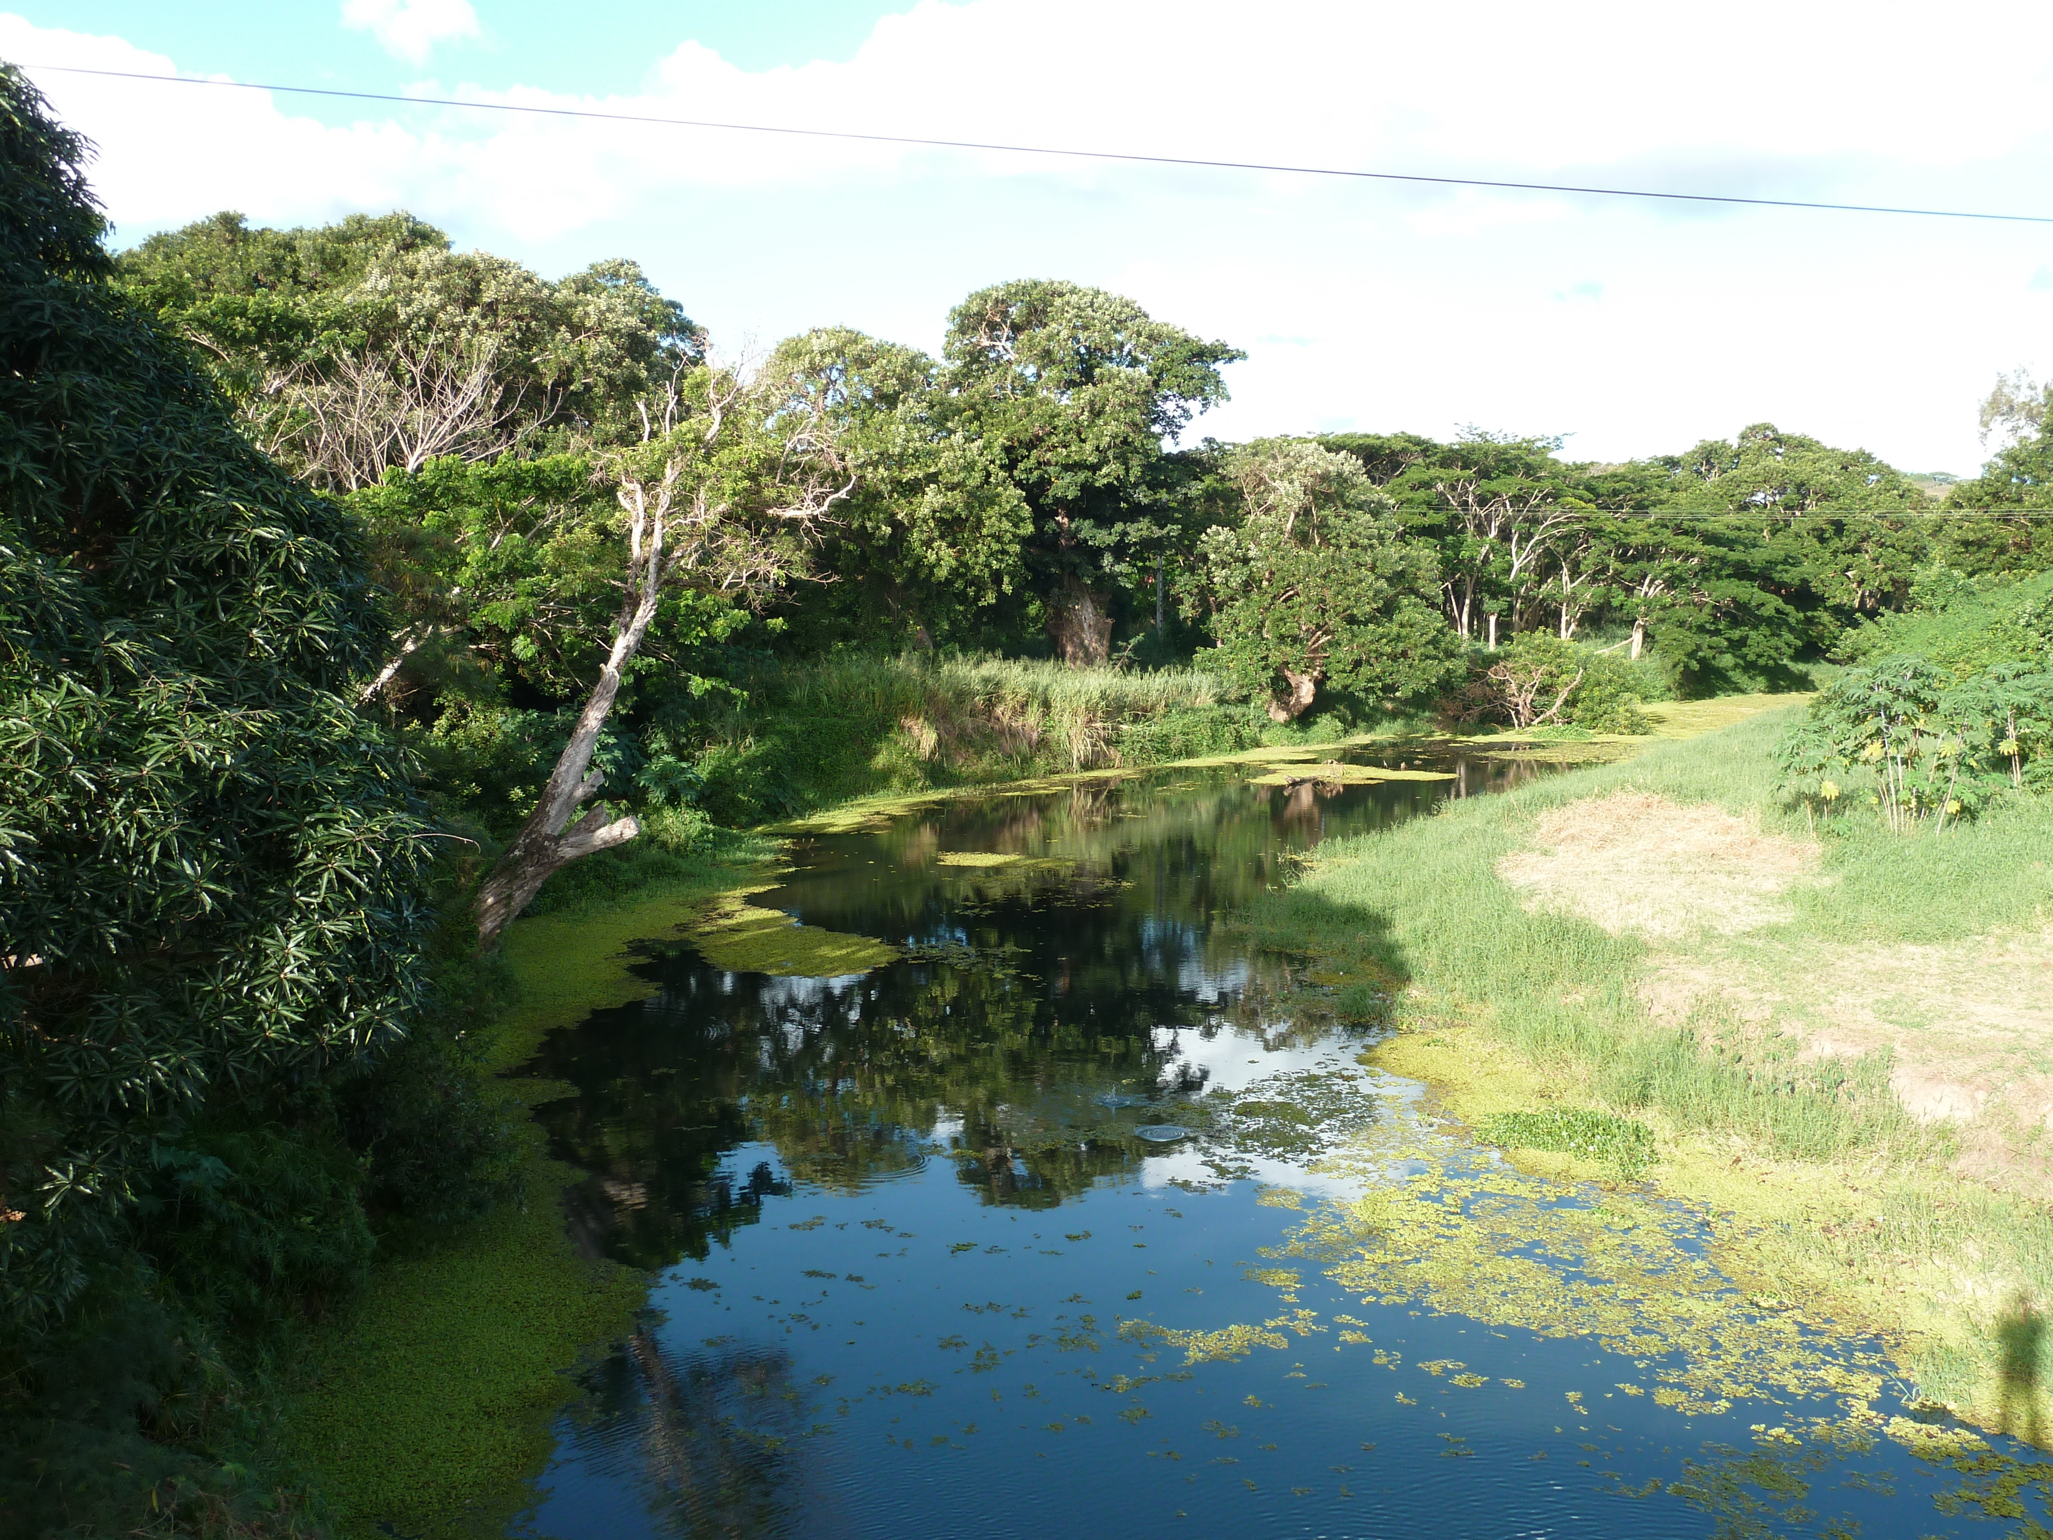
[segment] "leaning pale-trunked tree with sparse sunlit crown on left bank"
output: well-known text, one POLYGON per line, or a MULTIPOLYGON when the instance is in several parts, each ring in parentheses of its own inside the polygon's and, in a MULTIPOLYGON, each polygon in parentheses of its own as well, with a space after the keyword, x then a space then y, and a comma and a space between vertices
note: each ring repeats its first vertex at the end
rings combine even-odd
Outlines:
POLYGON ((606 661, 585 696, 542 799, 476 897, 478 947, 501 932, 563 867, 641 834, 628 813, 591 803, 591 764, 628 663, 671 589, 760 602, 805 565, 803 538, 852 491, 846 458, 815 400, 795 407, 772 372, 745 380, 698 365, 671 382, 645 439, 610 466, 624 561, 606 661), (583 809, 583 811, 581 811, 583 809))

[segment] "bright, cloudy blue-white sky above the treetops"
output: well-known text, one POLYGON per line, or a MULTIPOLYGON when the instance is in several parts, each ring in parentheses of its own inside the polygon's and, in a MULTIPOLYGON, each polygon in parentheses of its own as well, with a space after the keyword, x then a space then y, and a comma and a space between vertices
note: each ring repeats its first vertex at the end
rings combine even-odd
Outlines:
MULTIPOLYGON (((8 0, 0 0, 6 6, 8 0)), ((2053 8, 1731 0, 12 0, 115 244, 404 207, 556 277, 632 257, 729 353, 938 351, 1068 277, 1248 353, 1197 433, 1772 421, 1973 474, 2053 372, 2053 224, 1741 209, 591 123, 62 74, 2053 218, 2053 8)))

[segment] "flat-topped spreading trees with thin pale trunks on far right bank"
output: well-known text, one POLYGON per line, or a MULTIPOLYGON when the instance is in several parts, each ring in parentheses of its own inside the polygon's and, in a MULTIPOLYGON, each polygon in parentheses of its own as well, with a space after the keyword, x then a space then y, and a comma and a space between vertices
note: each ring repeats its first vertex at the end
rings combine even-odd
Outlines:
POLYGON ((1874 456, 1770 423, 1626 466, 1488 433, 1320 444, 1353 456, 1410 536, 1439 550, 1441 604, 1462 637, 1575 637, 1610 620, 1698 696, 1803 688, 1800 659, 1909 600, 1944 528, 1874 456))

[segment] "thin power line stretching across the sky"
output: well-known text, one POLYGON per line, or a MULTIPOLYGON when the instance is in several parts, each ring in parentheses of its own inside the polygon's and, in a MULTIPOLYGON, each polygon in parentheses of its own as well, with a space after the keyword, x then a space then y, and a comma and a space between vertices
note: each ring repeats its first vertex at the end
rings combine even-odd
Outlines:
POLYGON ((1727 193, 1657 193, 1644 187, 1577 187, 1568 183, 1515 183, 1484 177, 1425 177, 1404 170, 1345 170, 1339 166, 1283 166, 1261 160, 1205 160, 1199 156, 1150 156, 1127 150, 1057 150, 1045 144, 996 144, 985 140, 928 140, 912 133, 856 133, 854 129, 801 129, 776 123, 716 123, 696 117, 653 117, 645 113, 595 113, 583 107, 530 107, 519 103, 458 101, 454 97, 398 97, 378 90, 335 90, 328 86, 279 86, 259 80, 197 80, 193 76, 142 74, 133 70, 86 70, 74 64, 23 64, 23 70, 53 70, 90 74, 109 80, 154 80, 166 86, 226 86, 230 90, 277 90, 294 97, 337 97, 343 101, 382 101, 404 107, 460 107, 474 113, 526 113, 530 117, 577 117, 599 123, 643 123, 657 127, 719 129, 723 133, 778 133, 799 140, 850 140, 856 144, 907 144, 930 150, 990 150, 1016 156, 1059 156, 1070 160, 1117 160, 1141 166, 1201 166, 1209 170, 1267 170, 1291 177, 1341 177, 1373 183, 1425 183, 1429 187, 1493 187, 1517 193, 1583 193, 1589 197, 1640 197, 1671 203, 1727 203, 1759 209, 1823 209, 1829 214, 1901 214, 1922 220, 2000 220, 2006 224, 2053 224, 2053 214, 1987 214, 1981 209, 1913 209, 1889 203, 1815 203, 1792 197, 1733 197, 1727 193))

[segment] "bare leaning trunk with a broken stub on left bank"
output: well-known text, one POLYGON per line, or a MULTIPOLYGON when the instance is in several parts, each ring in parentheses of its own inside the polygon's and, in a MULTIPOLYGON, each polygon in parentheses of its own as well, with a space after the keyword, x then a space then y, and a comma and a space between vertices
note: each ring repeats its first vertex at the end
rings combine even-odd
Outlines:
POLYGON ((599 729, 606 727, 606 715, 620 694, 620 669, 634 657, 634 649, 641 647, 643 632, 649 630, 653 618, 653 591, 622 612, 612 653, 606 657, 606 667, 599 669, 599 682, 585 698, 585 708, 577 715, 571 741, 556 758, 540 805, 528 815, 521 832, 478 889, 474 914, 480 953, 499 945, 499 936, 542 891, 542 883, 550 875, 579 856, 626 844, 641 834, 641 823, 632 815, 608 821, 604 805, 589 809, 575 823, 571 823, 571 815, 606 784, 606 772, 591 768, 591 752, 599 745, 599 729))

